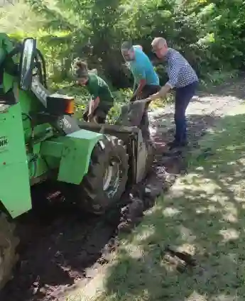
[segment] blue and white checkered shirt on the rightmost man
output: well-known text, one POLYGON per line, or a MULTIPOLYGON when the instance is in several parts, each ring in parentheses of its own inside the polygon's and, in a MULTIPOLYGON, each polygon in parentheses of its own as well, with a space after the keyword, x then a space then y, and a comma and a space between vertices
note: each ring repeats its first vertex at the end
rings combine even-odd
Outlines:
POLYGON ((168 63, 168 84, 172 89, 183 88, 192 82, 198 82, 196 72, 178 51, 168 48, 165 60, 168 63))

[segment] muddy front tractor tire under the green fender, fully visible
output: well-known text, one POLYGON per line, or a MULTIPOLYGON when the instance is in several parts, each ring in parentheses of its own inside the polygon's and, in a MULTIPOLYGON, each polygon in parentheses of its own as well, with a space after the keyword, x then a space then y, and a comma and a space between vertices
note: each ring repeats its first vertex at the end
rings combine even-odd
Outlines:
POLYGON ((92 214, 102 215, 118 204, 126 188, 129 155, 123 141, 104 136, 92 151, 89 170, 77 186, 77 204, 92 214))

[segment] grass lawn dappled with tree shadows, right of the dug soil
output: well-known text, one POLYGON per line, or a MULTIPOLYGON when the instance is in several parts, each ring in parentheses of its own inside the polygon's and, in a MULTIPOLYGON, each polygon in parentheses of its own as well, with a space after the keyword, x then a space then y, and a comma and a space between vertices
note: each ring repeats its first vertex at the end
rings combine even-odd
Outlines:
POLYGON ((239 106, 202 138, 188 174, 121 238, 91 298, 84 291, 67 300, 245 300, 244 136, 245 106, 239 106), (197 267, 180 270, 166 245, 195 255, 197 267))

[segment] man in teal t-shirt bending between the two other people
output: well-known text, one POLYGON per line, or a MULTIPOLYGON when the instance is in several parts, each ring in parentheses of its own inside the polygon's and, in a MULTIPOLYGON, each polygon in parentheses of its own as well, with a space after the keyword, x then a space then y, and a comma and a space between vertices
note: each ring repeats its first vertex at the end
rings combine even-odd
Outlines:
MULTIPOLYGON (((146 99, 151 94, 157 93, 160 90, 159 77, 142 47, 126 41, 121 45, 121 54, 134 75, 134 94, 130 101, 146 99)), ((141 130, 143 135, 150 138, 148 126, 148 113, 145 111, 141 120, 141 130)))

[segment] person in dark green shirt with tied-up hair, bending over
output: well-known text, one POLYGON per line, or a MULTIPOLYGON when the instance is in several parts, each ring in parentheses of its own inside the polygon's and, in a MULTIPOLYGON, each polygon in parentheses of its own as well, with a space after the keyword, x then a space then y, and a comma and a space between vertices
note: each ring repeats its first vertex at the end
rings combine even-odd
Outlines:
POLYGON ((89 72, 87 63, 80 60, 75 62, 75 77, 77 84, 86 87, 91 95, 83 119, 104 124, 109 110, 114 106, 114 97, 108 84, 94 72, 89 72))

